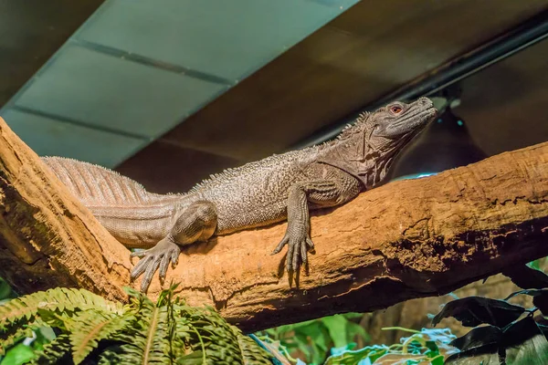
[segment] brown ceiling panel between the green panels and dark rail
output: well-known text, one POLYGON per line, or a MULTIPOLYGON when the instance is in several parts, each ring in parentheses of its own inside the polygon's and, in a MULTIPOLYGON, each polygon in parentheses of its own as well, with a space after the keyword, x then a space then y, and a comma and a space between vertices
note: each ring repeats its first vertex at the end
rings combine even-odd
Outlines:
POLYGON ((548 7, 545 0, 418 3, 359 2, 165 140, 244 161, 284 151, 548 7))

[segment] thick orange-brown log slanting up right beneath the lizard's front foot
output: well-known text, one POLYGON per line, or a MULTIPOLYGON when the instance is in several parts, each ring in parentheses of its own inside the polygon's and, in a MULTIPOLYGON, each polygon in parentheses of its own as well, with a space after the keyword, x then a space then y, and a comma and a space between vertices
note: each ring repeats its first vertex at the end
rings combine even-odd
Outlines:
POLYGON ((191 302, 213 301, 248 329, 447 293, 548 255, 547 162, 544 143, 315 214, 317 254, 299 288, 269 255, 285 224, 193 247, 170 277, 191 302))

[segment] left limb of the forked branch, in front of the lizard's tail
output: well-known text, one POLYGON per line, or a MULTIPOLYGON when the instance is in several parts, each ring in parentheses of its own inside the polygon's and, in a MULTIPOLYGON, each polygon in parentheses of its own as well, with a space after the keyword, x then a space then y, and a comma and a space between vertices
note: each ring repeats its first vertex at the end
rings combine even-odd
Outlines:
POLYGON ((128 250, 0 118, 0 277, 18 293, 85 287, 123 299, 128 250))

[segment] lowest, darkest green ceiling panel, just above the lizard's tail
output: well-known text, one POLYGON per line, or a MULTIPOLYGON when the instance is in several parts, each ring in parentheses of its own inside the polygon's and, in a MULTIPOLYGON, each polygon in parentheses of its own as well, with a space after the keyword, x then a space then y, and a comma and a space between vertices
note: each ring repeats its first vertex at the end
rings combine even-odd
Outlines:
POLYGON ((20 110, 2 110, 2 117, 17 136, 41 156, 70 156, 112 168, 146 144, 139 139, 20 110))

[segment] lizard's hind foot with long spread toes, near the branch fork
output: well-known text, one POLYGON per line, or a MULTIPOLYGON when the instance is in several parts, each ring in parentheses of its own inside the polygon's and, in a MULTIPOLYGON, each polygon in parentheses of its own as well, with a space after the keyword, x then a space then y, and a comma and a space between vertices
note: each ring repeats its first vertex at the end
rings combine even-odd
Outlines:
POLYGON ((133 267, 132 280, 144 273, 141 282, 141 291, 143 293, 146 292, 151 285, 156 270, 160 268, 160 280, 164 280, 167 266, 169 266, 170 262, 173 266, 177 265, 180 253, 181 248, 167 237, 163 238, 162 241, 158 242, 151 249, 132 252, 131 257, 141 257, 141 260, 133 267))

